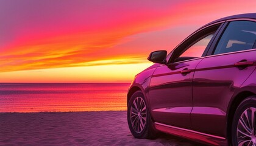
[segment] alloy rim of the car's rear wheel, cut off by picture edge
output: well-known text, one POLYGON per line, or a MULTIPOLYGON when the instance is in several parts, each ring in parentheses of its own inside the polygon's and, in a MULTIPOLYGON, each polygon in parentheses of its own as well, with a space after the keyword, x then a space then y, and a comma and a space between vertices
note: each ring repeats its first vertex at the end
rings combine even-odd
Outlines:
POLYGON ((238 146, 256 146, 256 108, 247 108, 240 116, 236 128, 238 146))

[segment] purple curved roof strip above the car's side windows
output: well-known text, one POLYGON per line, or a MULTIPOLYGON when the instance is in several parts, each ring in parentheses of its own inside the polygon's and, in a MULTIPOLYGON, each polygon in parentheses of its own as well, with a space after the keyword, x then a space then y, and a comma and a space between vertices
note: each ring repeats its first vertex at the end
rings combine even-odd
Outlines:
POLYGON ((241 18, 256 19, 256 13, 244 13, 244 14, 239 14, 239 15, 227 16, 227 17, 212 21, 211 23, 208 23, 208 24, 202 26, 201 28, 206 27, 206 26, 210 26, 211 24, 218 23, 220 21, 227 21, 229 19, 241 19, 241 18))

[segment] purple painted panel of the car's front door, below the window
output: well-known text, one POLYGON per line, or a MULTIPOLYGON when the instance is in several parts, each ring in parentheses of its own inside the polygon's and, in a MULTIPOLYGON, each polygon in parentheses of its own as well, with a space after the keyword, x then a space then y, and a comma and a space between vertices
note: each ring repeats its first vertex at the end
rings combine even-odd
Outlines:
POLYGON ((190 113, 193 108, 192 80, 194 75, 194 71, 191 69, 195 69, 201 60, 172 63, 168 66, 161 65, 152 74, 149 102, 155 122, 182 128, 191 127, 190 113), (182 71, 191 72, 182 73, 182 71), (181 92, 183 94, 180 94, 181 92))

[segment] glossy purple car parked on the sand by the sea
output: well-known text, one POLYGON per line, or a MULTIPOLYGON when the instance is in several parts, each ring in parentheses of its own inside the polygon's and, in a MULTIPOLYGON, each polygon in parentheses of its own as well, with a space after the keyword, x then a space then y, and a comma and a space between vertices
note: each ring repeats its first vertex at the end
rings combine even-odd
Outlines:
POLYGON ((157 131, 211 145, 256 145, 256 13, 201 27, 151 67, 127 94, 134 137, 157 131))

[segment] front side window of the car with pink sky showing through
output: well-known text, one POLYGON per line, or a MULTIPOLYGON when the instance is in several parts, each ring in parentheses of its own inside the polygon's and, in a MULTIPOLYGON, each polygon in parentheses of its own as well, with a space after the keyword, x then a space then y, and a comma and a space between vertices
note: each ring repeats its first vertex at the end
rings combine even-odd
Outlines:
POLYGON ((210 35, 204 36, 204 38, 197 41, 195 44, 185 50, 180 57, 202 57, 202 54, 204 53, 204 50, 212 39, 213 35, 214 33, 210 33, 210 35))

